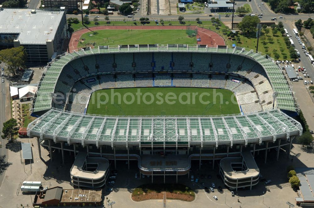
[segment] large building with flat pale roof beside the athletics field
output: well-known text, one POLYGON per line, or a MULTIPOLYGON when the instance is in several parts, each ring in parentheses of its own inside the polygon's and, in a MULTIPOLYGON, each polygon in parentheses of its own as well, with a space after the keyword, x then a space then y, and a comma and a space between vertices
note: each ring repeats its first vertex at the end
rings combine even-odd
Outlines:
POLYGON ((28 62, 47 62, 62 46, 65 11, 4 8, 0 19, 0 47, 24 46, 28 62))

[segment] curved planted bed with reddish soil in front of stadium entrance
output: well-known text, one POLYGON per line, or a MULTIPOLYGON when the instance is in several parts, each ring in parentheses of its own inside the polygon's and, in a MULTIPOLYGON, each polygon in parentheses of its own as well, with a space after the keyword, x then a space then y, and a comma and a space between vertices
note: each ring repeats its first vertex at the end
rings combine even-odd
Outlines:
POLYGON ((144 184, 134 189, 132 199, 144 201, 149 199, 162 199, 161 192, 166 192, 167 199, 193 201, 195 193, 183 184, 144 184))

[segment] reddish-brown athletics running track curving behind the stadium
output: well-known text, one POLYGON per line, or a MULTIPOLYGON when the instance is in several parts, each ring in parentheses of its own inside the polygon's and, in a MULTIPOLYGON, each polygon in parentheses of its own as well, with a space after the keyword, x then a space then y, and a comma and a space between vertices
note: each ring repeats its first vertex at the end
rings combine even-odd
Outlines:
MULTIPOLYGON (((195 29, 196 26, 190 26, 191 29, 195 29)), ((104 29, 187 29, 187 26, 97 26, 91 27, 88 29, 81 29, 74 32, 71 36, 69 42, 69 51, 78 49, 78 40, 80 39, 81 35, 90 31, 95 30, 104 30, 104 29)), ((198 41, 198 44, 201 45, 225 45, 225 40, 217 33, 204 29, 204 28, 197 28, 198 35, 197 38, 200 37, 202 41, 198 41)))

